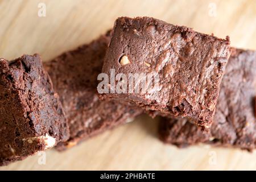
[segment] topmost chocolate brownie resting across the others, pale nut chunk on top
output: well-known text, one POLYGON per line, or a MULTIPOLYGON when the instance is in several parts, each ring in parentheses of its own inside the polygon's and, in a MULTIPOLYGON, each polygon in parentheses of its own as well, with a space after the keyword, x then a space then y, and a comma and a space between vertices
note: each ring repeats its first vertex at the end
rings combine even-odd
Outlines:
MULTIPOLYGON (((124 73, 126 78, 130 73, 152 73, 154 80, 158 76, 158 84, 148 86, 146 92, 127 89, 120 94, 110 82, 112 92, 106 90, 101 98, 127 101, 209 126, 229 55, 228 37, 218 39, 154 18, 118 18, 102 72, 110 77, 114 70, 116 76, 124 73)), ((116 84, 119 81, 117 77, 116 84)), ((133 87, 130 82, 127 85, 133 87)))

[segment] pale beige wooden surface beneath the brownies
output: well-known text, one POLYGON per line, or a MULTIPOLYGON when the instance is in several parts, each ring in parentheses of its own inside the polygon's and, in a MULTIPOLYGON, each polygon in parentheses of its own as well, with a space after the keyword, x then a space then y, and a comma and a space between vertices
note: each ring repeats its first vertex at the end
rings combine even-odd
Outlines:
MULTIPOLYGON (((118 16, 152 16, 225 38, 232 46, 256 49, 256 1, 82 1, 0 0, 0 57, 23 53, 47 61, 89 43, 118 16), (38 4, 46 16, 38 16, 38 4)), ((31 156, 11 169, 256 169, 256 152, 200 145, 177 149, 159 142, 157 119, 146 115, 59 153, 46 152, 46 164, 31 156)))

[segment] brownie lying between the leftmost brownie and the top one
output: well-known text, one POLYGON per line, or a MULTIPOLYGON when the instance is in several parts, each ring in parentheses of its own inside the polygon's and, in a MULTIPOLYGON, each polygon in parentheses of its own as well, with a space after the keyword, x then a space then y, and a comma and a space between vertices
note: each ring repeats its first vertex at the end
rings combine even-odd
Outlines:
POLYGON ((137 108, 100 101, 97 97, 97 76, 109 42, 110 32, 44 64, 60 95, 71 133, 67 142, 57 145, 58 150, 72 147, 141 114, 137 108))

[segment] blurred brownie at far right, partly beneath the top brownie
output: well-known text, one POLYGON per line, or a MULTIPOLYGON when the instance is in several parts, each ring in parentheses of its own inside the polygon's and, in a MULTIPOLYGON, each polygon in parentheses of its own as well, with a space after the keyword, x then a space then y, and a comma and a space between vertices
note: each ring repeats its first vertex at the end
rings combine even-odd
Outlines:
POLYGON ((209 132, 202 132, 187 119, 162 118, 160 138, 180 147, 212 143, 253 150, 256 146, 255 96, 256 51, 233 48, 209 132))

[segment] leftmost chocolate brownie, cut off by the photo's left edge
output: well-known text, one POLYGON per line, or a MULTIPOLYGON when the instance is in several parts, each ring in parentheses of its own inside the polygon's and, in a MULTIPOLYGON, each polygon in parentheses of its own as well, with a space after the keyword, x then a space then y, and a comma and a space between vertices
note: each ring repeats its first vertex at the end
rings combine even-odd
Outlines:
POLYGON ((0 166, 68 137, 59 97, 40 56, 0 59, 0 166))

